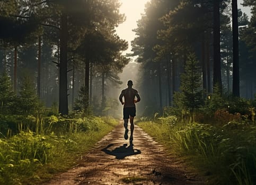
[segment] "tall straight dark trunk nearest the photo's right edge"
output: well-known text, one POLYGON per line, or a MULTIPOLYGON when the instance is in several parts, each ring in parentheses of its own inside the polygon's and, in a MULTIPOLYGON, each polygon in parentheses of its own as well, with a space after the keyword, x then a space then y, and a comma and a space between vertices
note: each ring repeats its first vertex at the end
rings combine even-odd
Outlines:
POLYGON ((240 97, 237 0, 232 0, 232 30, 233 30, 233 95, 236 97, 240 97))

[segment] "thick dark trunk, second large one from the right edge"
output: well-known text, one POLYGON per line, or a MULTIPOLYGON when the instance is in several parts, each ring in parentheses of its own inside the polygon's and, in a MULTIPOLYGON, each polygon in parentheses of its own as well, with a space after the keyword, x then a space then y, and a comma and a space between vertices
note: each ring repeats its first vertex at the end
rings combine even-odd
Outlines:
POLYGON ((213 71, 213 84, 218 86, 222 92, 222 74, 220 67, 220 13, 219 13, 219 0, 214 0, 214 71, 213 71))

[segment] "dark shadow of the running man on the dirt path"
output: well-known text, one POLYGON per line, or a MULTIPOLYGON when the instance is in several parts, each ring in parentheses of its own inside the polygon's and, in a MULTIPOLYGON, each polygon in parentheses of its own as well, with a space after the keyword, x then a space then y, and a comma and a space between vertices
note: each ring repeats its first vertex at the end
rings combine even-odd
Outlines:
POLYGON ((137 155, 142 152, 140 150, 134 149, 133 141, 130 141, 130 144, 123 144, 122 146, 116 147, 114 150, 108 150, 109 147, 113 146, 114 144, 109 144, 108 146, 104 147, 101 151, 116 156, 116 159, 124 159, 126 156, 130 155, 137 155))

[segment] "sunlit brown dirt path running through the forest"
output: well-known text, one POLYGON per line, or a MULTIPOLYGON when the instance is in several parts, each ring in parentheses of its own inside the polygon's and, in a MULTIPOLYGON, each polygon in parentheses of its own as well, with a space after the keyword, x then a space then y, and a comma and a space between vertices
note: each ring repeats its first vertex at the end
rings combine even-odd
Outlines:
POLYGON ((133 142, 123 134, 120 122, 80 164, 46 184, 204 184, 138 126, 133 142))

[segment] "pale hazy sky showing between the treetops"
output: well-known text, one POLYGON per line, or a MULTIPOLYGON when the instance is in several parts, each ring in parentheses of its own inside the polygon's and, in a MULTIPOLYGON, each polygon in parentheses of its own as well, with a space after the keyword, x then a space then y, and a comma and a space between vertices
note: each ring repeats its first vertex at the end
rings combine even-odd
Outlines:
MULTIPOLYGON (((120 13, 126 15, 126 21, 117 27, 117 34, 121 39, 125 39, 129 42, 129 48, 126 52, 130 53, 130 42, 135 38, 135 32, 132 30, 137 27, 137 21, 140 19, 141 14, 144 13, 144 7, 149 0, 120 0, 122 3, 120 7, 120 13)), ((237 0, 238 8, 241 8, 243 12, 250 15, 250 8, 242 7, 240 5, 243 0, 237 0)))

